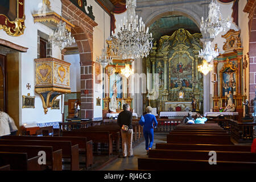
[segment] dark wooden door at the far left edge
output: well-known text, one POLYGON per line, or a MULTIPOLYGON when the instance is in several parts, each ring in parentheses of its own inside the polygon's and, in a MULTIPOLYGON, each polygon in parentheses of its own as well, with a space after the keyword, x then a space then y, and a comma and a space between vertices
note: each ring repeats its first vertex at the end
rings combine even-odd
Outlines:
POLYGON ((0 55, 0 110, 6 112, 6 56, 0 55))

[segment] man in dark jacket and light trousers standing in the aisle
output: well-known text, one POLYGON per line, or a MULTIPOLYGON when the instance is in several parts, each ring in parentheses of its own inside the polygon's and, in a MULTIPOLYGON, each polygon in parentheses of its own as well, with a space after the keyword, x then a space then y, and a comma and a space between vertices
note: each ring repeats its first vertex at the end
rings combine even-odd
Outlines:
POLYGON ((117 123, 121 128, 122 134, 122 150, 123 158, 126 158, 127 151, 128 156, 133 157, 133 126, 131 125, 133 121, 133 113, 130 112, 129 104, 123 105, 123 111, 119 113, 117 118, 117 123), (122 130, 122 126, 128 127, 127 131, 122 130))

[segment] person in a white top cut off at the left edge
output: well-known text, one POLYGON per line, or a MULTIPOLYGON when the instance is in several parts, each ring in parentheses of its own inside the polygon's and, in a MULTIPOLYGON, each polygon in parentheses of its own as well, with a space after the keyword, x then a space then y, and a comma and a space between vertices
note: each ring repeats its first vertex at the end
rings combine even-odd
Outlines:
POLYGON ((16 135, 17 131, 18 128, 16 127, 13 118, 0 110, 0 139, 6 135, 16 135))

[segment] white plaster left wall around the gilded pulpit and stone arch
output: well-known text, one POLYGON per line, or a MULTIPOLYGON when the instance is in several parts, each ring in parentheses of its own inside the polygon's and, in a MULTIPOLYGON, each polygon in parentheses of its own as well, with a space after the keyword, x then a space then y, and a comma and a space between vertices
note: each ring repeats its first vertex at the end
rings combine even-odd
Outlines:
MULTIPOLYGON (((96 22, 99 24, 98 27, 94 28, 94 41, 93 41, 93 49, 96 52, 94 54, 93 60, 96 60, 96 55, 101 52, 101 48, 103 47, 103 10, 101 7, 93 0, 89 0, 93 6, 93 13, 96 16, 96 22)), ((39 8, 42 6, 42 0, 34 0, 34 1, 26 1, 25 3, 25 26, 26 29, 24 34, 18 37, 12 37, 7 35, 3 30, 0 30, 0 38, 5 39, 7 41, 13 42, 14 44, 18 44, 19 46, 27 47, 28 50, 26 53, 20 53, 20 123, 27 123, 30 125, 36 125, 36 123, 44 123, 44 122, 59 122, 62 120, 61 109, 60 110, 51 110, 48 108, 48 113, 44 114, 42 100, 38 94, 35 93, 35 67, 34 67, 34 59, 37 58, 37 48, 38 48, 38 30, 44 32, 47 35, 52 34, 53 30, 44 26, 41 23, 34 23, 34 18, 32 14, 38 13, 39 8), (27 83, 31 84, 31 89, 28 90, 26 88, 27 83), (22 96, 27 96, 30 93, 31 96, 35 96, 35 109, 22 109, 22 96)), ((60 0, 51 0, 51 9, 55 11, 57 14, 61 13, 61 2, 60 0)), ((110 16, 105 14, 105 35, 106 38, 110 35, 110 16)), ((52 56, 61 59, 60 49, 57 47, 53 47, 52 56)), ((67 60, 72 62, 71 70, 72 72, 76 72, 76 74, 71 73, 71 77, 77 78, 80 76, 80 65, 79 64, 79 56, 73 55, 69 56, 67 60), (78 63, 78 64, 77 64, 78 63)), ((72 78, 73 79, 73 78, 72 78)), ((80 79, 79 79, 80 80, 80 79)), ((71 82, 72 92, 80 90, 80 81, 71 82)), ((95 84, 94 84, 95 85, 95 84)), ((95 90, 95 89, 94 89, 95 90)), ((94 116, 102 117, 102 107, 96 107, 96 97, 100 96, 100 94, 94 93, 94 116)), ((102 95, 101 95, 102 98, 102 95)), ((57 99, 61 100, 61 96, 57 97, 57 99)), ((61 103, 60 103, 61 105, 61 103)))

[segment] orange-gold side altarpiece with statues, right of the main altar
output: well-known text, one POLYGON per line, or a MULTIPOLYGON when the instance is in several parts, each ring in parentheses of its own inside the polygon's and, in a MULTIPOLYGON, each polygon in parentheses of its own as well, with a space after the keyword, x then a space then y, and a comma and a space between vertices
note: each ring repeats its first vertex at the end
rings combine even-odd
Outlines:
MULTIPOLYGON (((213 111, 226 109, 228 105, 234 104, 239 116, 243 116, 242 102, 246 98, 243 94, 243 48, 241 47, 241 31, 230 29, 222 38, 225 38, 223 54, 214 59, 214 96, 213 111), (229 101, 229 99, 231 100, 229 101)), ((216 44, 217 48, 217 44, 216 44)))

